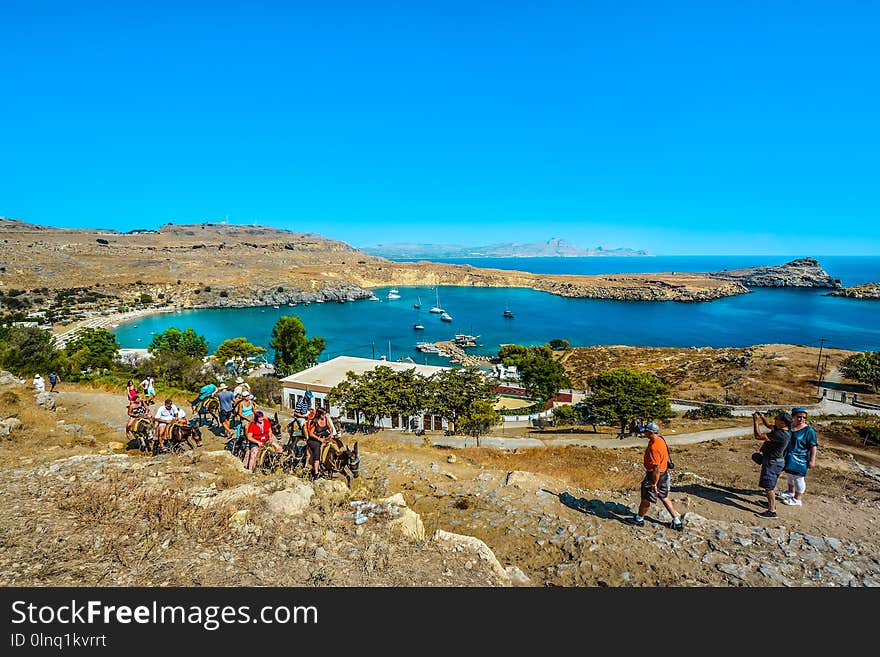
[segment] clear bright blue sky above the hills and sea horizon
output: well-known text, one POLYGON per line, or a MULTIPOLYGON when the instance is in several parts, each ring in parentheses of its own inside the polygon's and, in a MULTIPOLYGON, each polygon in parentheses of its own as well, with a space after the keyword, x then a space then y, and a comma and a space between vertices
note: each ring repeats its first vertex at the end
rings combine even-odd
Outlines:
POLYGON ((880 4, 0 2, 0 215, 880 254, 880 4))

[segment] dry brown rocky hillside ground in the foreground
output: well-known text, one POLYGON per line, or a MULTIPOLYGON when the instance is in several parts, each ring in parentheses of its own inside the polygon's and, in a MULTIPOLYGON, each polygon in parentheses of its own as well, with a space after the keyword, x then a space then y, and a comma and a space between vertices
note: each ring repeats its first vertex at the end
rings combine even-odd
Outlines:
POLYGON ((804 506, 780 505, 777 520, 755 516, 754 441, 673 446, 686 521, 675 532, 659 507, 643 528, 624 522, 642 450, 611 438, 498 450, 361 436, 349 491, 245 473, 219 438, 182 455, 125 452, 121 404, 68 389, 48 410, 31 396, 0 391, 0 415, 20 423, 0 442, 3 585, 880 583, 880 448, 849 421, 820 427, 804 506), (385 506, 355 524, 353 501, 385 506))

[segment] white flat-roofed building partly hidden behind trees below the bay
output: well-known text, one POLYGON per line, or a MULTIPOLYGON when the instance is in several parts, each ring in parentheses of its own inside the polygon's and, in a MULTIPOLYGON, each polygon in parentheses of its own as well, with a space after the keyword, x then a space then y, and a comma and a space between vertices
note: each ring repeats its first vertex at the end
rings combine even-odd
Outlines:
MULTIPOLYGON (((390 367, 392 370, 402 372, 414 369, 418 374, 429 377, 442 370, 452 369, 436 365, 419 365, 418 363, 400 363, 389 360, 373 360, 372 358, 357 358, 356 356, 337 356, 326 363, 318 363, 307 370, 291 374, 281 379, 282 403, 285 408, 293 409, 300 397, 310 390, 313 395, 314 405, 321 406, 330 412, 333 417, 341 417, 344 420, 355 421, 354 413, 346 412, 336 406, 331 406, 327 400, 327 393, 336 385, 345 381, 348 372, 363 374, 377 367, 390 367)), ((443 431, 447 427, 446 420, 439 415, 419 415, 418 417, 405 418, 395 417, 382 418, 378 426, 386 429, 426 429, 428 431, 443 431)))

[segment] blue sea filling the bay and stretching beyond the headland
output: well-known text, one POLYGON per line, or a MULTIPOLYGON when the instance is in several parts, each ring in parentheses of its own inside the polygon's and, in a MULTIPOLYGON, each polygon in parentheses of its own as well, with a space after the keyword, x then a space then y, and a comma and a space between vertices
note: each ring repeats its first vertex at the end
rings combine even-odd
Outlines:
MULTIPOLYGON (((434 262, 528 271, 536 274, 714 272, 778 265, 802 256, 595 256, 585 258, 471 258, 434 262)), ((880 282, 880 256, 813 256, 846 287, 880 282)), ((205 281, 221 285, 222 280, 205 281)), ((830 290, 763 289, 701 303, 568 299, 519 288, 430 286, 374 292, 378 301, 178 311, 140 317, 114 332, 126 348, 145 348, 155 333, 191 327, 216 348, 244 337, 269 347, 272 327, 283 315, 302 319, 307 337, 327 348, 319 361, 340 355, 430 365, 448 360, 416 349, 418 342, 476 336, 469 353, 492 356, 503 344, 539 345, 567 340, 572 346, 746 347, 797 344, 858 351, 880 350, 880 301, 826 296, 830 290), (414 308, 420 303, 421 308, 414 308), (451 322, 429 309, 439 303, 451 322), (504 317, 509 309, 512 318, 504 317), (413 326, 421 324, 424 330, 413 326)), ((271 351, 269 357, 271 359, 271 351)))

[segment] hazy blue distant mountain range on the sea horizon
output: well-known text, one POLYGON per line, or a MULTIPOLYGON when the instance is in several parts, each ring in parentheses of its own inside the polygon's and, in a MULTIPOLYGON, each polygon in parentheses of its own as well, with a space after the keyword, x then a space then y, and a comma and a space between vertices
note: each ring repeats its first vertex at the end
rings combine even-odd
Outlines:
POLYGON ((582 258, 586 256, 638 256, 650 255, 645 250, 584 249, 565 240, 551 238, 546 242, 502 242, 485 246, 459 246, 456 244, 374 244, 359 247, 369 255, 383 258, 582 258))

